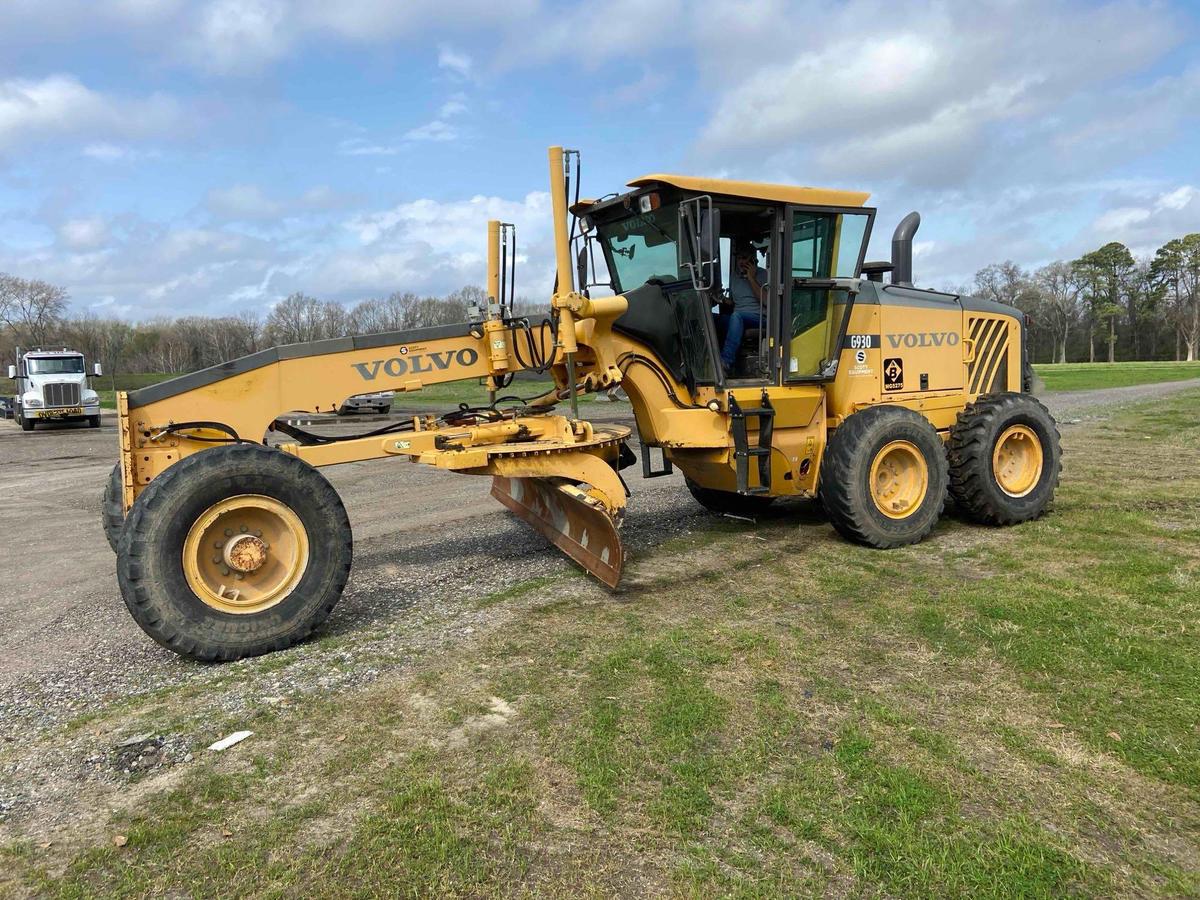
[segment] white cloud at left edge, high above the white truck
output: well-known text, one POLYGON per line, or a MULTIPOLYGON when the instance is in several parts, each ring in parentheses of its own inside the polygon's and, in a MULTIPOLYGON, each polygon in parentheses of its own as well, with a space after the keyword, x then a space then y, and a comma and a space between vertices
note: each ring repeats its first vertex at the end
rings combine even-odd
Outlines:
POLYGON ((0 82, 0 151, 55 137, 167 134, 179 120, 179 104, 158 94, 115 97, 66 74, 0 82))

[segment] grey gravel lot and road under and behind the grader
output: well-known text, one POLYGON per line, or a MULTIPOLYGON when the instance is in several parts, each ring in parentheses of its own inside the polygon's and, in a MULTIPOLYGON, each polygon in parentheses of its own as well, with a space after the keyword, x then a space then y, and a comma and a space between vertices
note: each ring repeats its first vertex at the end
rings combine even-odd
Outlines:
MULTIPOLYGON (((1116 407, 1195 386, 1200 380, 1049 395, 1045 401, 1069 428, 1116 407)), ((596 402, 584 414, 630 419, 626 403, 596 402)), ((361 683, 383 666, 403 665, 504 616, 503 604, 480 608, 473 600, 534 576, 576 571, 491 499, 488 479, 392 460, 334 467, 325 473, 349 511, 355 560, 343 599, 322 632, 332 640, 288 652, 287 665, 269 674, 257 674, 264 670, 254 661, 200 665, 150 641, 124 607, 114 556, 100 526, 100 494, 115 456, 112 418, 98 431, 32 433, 0 421, 0 530, 7 551, 0 583, 0 839, 65 817, 61 810, 58 817, 46 810, 55 798, 65 803, 80 784, 121 778, 110 748, 98 751, 76 727, 85 716, 181 685, 212 685, 221 709, 236 713, 265 692, 361 683), (389 497, 394 499, 383 499, 389 497), (245 683, 229 678, 242 671, 253 677, 245 683), (18 822, 24 828, 12 832, 18 822)), ((632 492, 623 539, 635 557, 646 558, 664 540, 707 518, 680 475, 647 481, 636 466, 623 474, 632 492)), ((155 764, 186 752, 184 740, 168 737, 160 744, 155 764)))

